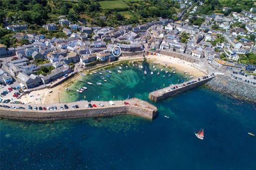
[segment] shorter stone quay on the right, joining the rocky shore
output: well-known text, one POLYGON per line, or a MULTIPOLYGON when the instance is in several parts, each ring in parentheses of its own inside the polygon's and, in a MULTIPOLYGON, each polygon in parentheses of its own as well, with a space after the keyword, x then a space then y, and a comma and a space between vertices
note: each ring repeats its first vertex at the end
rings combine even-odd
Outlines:
POLYGON ((157 102, 159 100, 172 97, 172 96, 175 96, 176 94, 204 85, 209 80, 212 80, 214 77, 215 77, 215 74, 212 73, 212 74, 209 74, 208 76, 202 76, 200 78, 194 78, 180 84, 170 85, 163 89, 150 92, 148 98, 152 101, 157 102))

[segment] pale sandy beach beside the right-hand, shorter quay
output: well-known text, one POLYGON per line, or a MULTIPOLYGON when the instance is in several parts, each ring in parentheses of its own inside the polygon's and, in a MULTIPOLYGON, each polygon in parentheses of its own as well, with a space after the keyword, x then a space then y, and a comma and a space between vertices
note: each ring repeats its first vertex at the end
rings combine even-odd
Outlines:
POLYGON ((193 63, 186 62, 185 60, 181 60, 179 58, 174 58, 165 55, 149 55, 146 56, 148 62, 160 63, 163 66, 175 67, 178 72, 185 72, 191 73, 194 77, 201 77, 204 76, 207 72, 206 70, 200 70, 198 65, 193 63))

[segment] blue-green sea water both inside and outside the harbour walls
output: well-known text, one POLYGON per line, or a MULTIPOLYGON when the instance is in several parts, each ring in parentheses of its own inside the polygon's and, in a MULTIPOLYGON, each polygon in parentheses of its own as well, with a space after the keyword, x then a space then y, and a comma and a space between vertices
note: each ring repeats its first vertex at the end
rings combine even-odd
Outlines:
MULTIPOLYGON (((144 76, 137 67, 123 68, 121 74, 117 66, 108 70, 110 78, 106 71, 97 71, 107 83, 99 74, 86 76, 71 84, 62 100, 148 100, 148 92, 187 76, 144 76), (89 86, 87 81, 103 85, 89 86), (88 90, 77 94, 80 86, 88 90)), ((204 86, 153 104, 159 109, 154 120, 1 120, 1 169, 256 169, 256 138, 247 134, 256 133, 254 104, 204 86), (200 128, 205 130, 204 140, 194 135, 200 128)))

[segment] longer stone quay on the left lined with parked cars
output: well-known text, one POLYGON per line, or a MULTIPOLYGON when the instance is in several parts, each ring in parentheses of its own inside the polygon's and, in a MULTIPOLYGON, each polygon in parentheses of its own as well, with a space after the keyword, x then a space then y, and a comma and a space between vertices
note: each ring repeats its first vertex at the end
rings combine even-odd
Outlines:
POLYGON ((0 107, 0 118, 15 120, 49 121, 88 117, 107 117, 111 115, 137 115, 139 117, 154 119, 157 108, 146 101, 132 98, 118 101, 76 101, 73 103, 58 104, 6 104, 0 107), (66 105, 66 108, 62 108, 66 105), (77 107, 73 107, 73 106, 77 107), (37 110, 35 107, 62 108, 58 110, 37 110), (32 108, 31 108, 32 107, 32 108))

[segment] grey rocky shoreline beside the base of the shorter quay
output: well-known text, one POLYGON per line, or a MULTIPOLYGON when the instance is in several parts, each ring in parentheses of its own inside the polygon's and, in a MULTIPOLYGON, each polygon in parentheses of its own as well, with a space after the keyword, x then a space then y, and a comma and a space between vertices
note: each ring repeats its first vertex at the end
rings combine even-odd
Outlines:
POLYGON ((206 84, 212 90, 230 94, 231 96, 256 103, 256 87, 234 80, 228 76, 218 76, 206 84))

